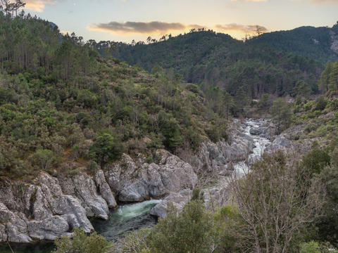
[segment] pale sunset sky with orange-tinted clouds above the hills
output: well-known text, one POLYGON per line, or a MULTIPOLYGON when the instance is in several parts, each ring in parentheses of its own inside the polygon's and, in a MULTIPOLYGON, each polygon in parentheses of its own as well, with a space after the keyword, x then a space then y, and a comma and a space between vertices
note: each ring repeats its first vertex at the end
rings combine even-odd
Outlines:
POLYGON ((26 0, 26 13, 84 40, 146 41, 204 27, 242 39, 303 25, 332 27, 338 0, 26 0))

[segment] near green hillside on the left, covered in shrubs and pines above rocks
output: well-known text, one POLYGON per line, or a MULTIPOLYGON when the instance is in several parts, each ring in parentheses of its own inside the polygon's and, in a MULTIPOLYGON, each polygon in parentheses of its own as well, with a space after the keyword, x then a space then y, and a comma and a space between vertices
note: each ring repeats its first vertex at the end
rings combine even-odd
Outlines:
POLYGON ((82 37, 30 15, 0 13, 0 34, 0 176, 68 173, 68 161, 90 169, 123 152, 151 161, 155 148, 226 138, 204 94, 175 76, 104 60, 82 37))

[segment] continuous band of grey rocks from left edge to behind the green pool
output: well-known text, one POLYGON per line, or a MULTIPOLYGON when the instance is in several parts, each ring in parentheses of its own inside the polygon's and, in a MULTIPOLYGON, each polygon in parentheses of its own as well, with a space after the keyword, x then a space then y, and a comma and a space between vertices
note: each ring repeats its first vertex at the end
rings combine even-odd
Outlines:
POLYGON ((32 242, 71 236, 73 228, 93 230, 88 217, 108 219, 109 208, 120 202, 164 197, 197 183, 194 169, 165 150, 156 163, 123 159, 89 176, 79 167, 74 176, 58 178, 42 172, 32 183, 0 181, 0 242, 32 242))

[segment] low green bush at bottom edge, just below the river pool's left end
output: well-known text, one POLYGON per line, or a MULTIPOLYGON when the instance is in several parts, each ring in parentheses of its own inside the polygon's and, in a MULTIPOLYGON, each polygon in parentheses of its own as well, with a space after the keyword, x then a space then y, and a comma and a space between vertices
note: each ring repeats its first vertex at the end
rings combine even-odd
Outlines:
POLYGON ((79 228, 74 229, 73 238, 63 237, 55 240, 54 253, 104 253, 109 242, 100 235, 92 233, 87 236, 79 228))

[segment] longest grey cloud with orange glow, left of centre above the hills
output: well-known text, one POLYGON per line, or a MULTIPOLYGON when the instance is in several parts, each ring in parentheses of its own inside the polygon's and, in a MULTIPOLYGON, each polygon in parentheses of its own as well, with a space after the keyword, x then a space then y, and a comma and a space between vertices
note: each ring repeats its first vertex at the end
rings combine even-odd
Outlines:
MULTIPOLYGON (((155 32, 168 32, 171 30, 185 30, 191 25, 184 25, 180 22, 108 22, 90 25, 89 30, 99 30, 103 32, 113 33, 139 33, 139 34, 152 34, 155 32)), ((197 25, 193 26, 197 27, 197 25)))

